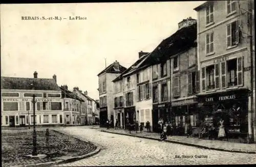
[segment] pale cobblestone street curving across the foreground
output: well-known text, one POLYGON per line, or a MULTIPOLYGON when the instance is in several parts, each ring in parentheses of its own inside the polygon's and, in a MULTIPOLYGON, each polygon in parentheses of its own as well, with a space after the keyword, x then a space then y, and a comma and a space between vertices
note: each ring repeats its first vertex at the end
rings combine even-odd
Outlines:
POLYGON ((256 162, 255 154, 199 149, 100 132, 100 129, 90 129, 84 126, 61 127, 58 130, 100 145, 102 150, 92 157, 55 166, 252 164, 256 162), (204 157, 199 158, 200 155, 204 157))

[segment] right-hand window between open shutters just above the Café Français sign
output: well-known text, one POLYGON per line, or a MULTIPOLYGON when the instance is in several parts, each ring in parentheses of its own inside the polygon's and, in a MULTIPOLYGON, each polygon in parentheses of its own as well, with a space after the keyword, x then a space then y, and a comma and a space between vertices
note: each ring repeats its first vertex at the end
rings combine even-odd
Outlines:
POLYGON ((228 79, 228 87, 234 87, 238 85, 237 59, 232 59, 227 61, 227 79, 228 79))

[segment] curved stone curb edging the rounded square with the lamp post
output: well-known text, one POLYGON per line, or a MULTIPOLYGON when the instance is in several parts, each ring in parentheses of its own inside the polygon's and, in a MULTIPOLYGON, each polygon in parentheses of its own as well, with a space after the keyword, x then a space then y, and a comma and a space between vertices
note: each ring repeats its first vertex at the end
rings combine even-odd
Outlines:
MULTIPOLYGON (((53 130, 53 129, 51 129, 51 130, 53 130)), ((53 131, 58 132, 58 133, 62 133, 62 134, 68 135, 68 136, 72 136, 70 134, 60 132, 58 130, 53 130, 53 131)), ((84 140, 83 138, 79 138, 79 137, 76 137, 76 136, 72 136, 72 137, 77 138, 78 140, 93 144, 91 142, 88 142, 88 141, 84 140)), ((55 160, 55 161, 51 161, 51 162, 45 162, 45 163, 32 163, 32 164, 25 164, 25 165, 17 165, 15 167, 35 167, 35 166, 36 167, 37 166, 45 167, 45 166, 56 165, 56 164, 60 164, 60 163, 69 163, 69 162, 77 161, 77 160, 80 160, 80 159, 83 159, 83 158, 88 158, 88 157, 91 157, 93 155, 98 154, 101 150, 98 145, 96 145, 96 144, 93 144, 93 145, 95 145, 97 147, 93 152, 90 152, 88 154, 84 154, 84 155, 81 155, 81 156, 76 156, 76 157, 72 157, 72 158, 69 158, 69 159, 63 159, 63 160, 59 159, 59 160, 55 160)))

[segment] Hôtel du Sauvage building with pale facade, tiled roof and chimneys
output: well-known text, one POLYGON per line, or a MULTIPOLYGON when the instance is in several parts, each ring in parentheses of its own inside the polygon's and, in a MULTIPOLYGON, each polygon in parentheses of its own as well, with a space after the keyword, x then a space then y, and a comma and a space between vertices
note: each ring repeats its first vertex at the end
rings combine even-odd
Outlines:
POLYGON ((26 127, 33 125, 35 109, 36 126, 63 125, 61 90, 52 79, 1 77, 2 126, 26 127), (32 103, 35 95, 35 108, 32 103))

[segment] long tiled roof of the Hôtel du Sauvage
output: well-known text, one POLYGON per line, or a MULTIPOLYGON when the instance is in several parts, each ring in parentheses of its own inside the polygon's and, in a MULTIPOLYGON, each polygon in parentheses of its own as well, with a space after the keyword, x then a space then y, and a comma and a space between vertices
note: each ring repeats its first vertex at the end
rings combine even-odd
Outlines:
POLYGON ((60 91, 54 79, 1 77, 1 89, 60 91))

